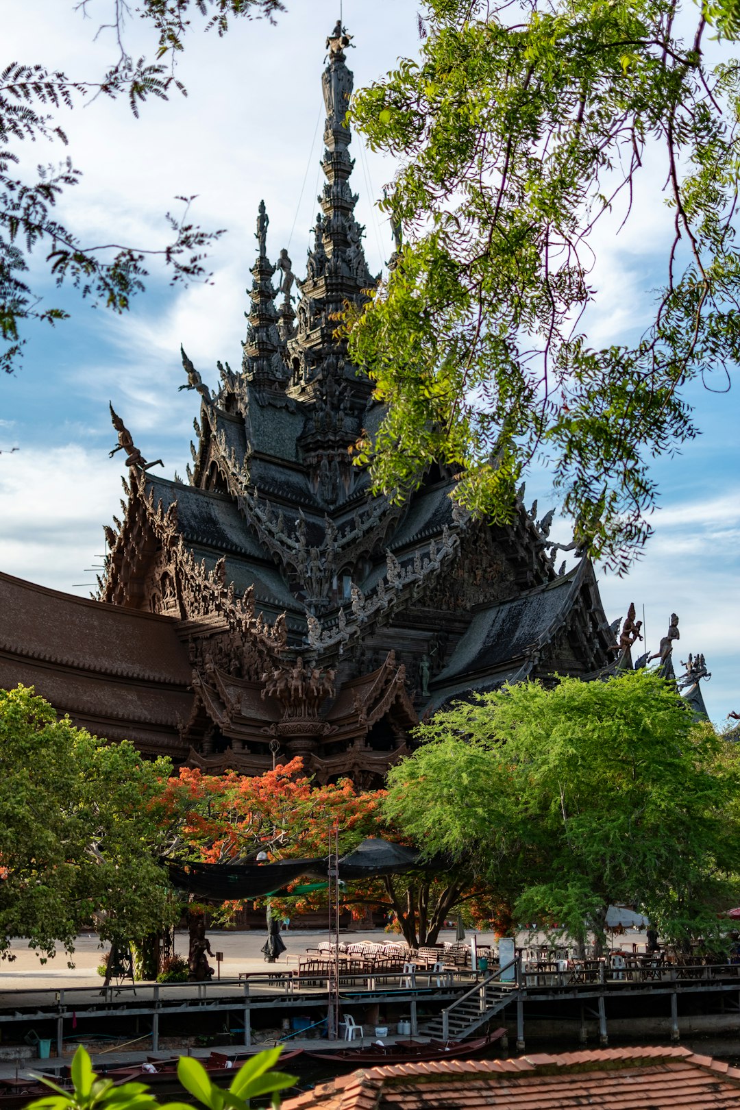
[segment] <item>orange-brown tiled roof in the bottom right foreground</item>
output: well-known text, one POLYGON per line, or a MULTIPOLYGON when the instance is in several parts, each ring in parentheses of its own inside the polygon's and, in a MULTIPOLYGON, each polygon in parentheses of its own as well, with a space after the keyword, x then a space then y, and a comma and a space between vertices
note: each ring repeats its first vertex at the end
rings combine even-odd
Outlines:
POLYGON ((283 1110, 722 1110, 740 1107, 740 1068, 688 1048, 539 1052, 354 1071, 283 1110))

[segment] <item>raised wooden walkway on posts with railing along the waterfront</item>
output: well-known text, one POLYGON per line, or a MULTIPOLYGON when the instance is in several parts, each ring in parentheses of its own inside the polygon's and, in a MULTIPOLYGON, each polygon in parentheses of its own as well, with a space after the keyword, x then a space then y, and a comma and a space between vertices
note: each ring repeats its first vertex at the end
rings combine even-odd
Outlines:
MULTIPOLYGON (((707 996, 722 1000, 724 1009, 737 1010, 740 1030, 740 966, 702 965, 696 967, 671 966, 661 969, 641 968, 627 971, 595 969, 582 975, 580 969, 525 971, 517 961, 513 981, 501 982, 495 971, 475 980, 470 971, 448 971, 443 977, 435 972, 417 971, 413 979, 396 976, 381 977, 372 973, 341 975, 339 1000, 343 1008, 385 1007, 403 1003, 410 1012, 414 1035, 427 1033, 445 1039, 469 1036, 476 1029, 496 1020, 516 1007, 517 1046, 524 1050, 524 1027, 527 1009, 548 1003, 557 1016, 572 1010, 580 1003, 589 1016, 598 1017, 599 1033, 607 1041, 607 1006, 616 999, 638 999, 667 996, 671 1006, 671 1035, 678 1038, 678 1010, 681 997, 707 996), (419 1022, 419 1007, 426 1011, 419 1022), (437 1017, 434 1015, 437 1013, 437 1017)), ((62 1054, 65 1037, 78 1022, 92 1019, 100 1032, 105 1023, 120 1028, 124 1021, 142 1019, 146 1033, 151 1030, 152 1051, 159 1051, 160 1022, 178 1015, 233 1015, 243 1023, 243 1043, 252 1043, 253 1011, 277 1011, 283 1016, 298 1012, 326 1012, 334 985, 330 979, 316 978, 311 983, 301 981, 290 971, 253 972, 240 979, 222 979, 209 983, 136 983, 108 988, 107 991, 90 987, 62 990, 12 990, 0 995, 0 1039, 18 1039, 13 1026, 44 1023, 47 1031, 55 1029, 57 1056, 62 1054)), ((582 1011, 581 1011, 582 1012, 582 1011)), ((144 1030, 142 1030, 144 1031, 144 1030)), ((22 1035, 22 1030, 18 1030, 22 1035)), ((52 1041, 54 1038, 52 1038, 52 1041)))

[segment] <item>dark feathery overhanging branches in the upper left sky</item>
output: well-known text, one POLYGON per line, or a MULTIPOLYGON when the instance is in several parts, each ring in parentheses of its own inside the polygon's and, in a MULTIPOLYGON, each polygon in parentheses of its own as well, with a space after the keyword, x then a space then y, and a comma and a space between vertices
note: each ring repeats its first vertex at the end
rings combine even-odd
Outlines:
MULTIPOLYGON (((70 7, 88 14, 90 0, 70 7)), ((53 165, 37 165, 28 158, 29 143, 57 140, 67 145, 60 112, 80 107, 95 95, 123 97, 134 115, 154 97, 185 94, 175 75, 175 58, 184 49, 193 20, 224 34, 233 19, 263 16, 273 20, 284 11, 281 0, 142 0, 131 9, 124 0, 104 0, 100 31, 112 34, 115 54, 97 81, 70 79, 39 63, 10 62, 0 72, 0 369, 11 373, 26 342, 29 320, 50 324, 68 317, 29 284, 30 258, 40 252, 47 280, 64 282, 113 312, 124 312, 144 289, 148 260, 159 258, 172 282, 207 279, 204 251, 222 231, 204 231, 192 222, 190 202, 179 196, 181 211, 166 214, 171 241, 161 249, 125 243, 82 243, 73 230, 54 215, 64 190, 80 182, 81 173, 68 158, 53 165), (135 12, 154 31, 155 60, 134 60, 126 48, 125 22, 135 12), (28 163, 28 164, 27 164, 28 163)), ((101 12, 95 6, 95 14, 101 12)), ((36 279, 42 287, 43 282, 36 279)))

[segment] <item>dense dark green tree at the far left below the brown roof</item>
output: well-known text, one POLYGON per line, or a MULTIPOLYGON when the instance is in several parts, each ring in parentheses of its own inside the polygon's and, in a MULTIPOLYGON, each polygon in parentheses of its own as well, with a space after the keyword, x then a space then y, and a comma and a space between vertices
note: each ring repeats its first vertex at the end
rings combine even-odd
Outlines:
POLYGON ((28 938, 73 951, 81 926, 135 939, 170 925, 155 855, 169 760, 107 744, 19 686, 0 690, 0 957, 28 938))

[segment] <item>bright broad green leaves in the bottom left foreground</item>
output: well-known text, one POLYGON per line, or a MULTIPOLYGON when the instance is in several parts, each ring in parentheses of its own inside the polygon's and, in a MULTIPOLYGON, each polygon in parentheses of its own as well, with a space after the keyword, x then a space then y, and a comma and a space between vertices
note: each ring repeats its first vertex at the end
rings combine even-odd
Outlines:
MULTIPOLYGON (((180 1058, 178 1079, 209 1110, 249 1110, 249 1100, 264 1094, 272 1094, 273 1106, 278 1107, 277 1092, 295 1082, 295 1076, 270 1071, 281 1052, 282 1047, 251 1057, 225 1091, 212 1082, 203 1064, 192 1057, 180 1058)), ((158 1102, 145 1083, 114 1087, 112 1079, 99 1079, 81 1045, 72 1061, 73 1090, 64 1091, 47 1078, 43 1082, 54 1093, 29 1103, 27 1110, 160 1110, 160 1107, 162 1110, 191 1110, 186 1102, 158 1102)))

